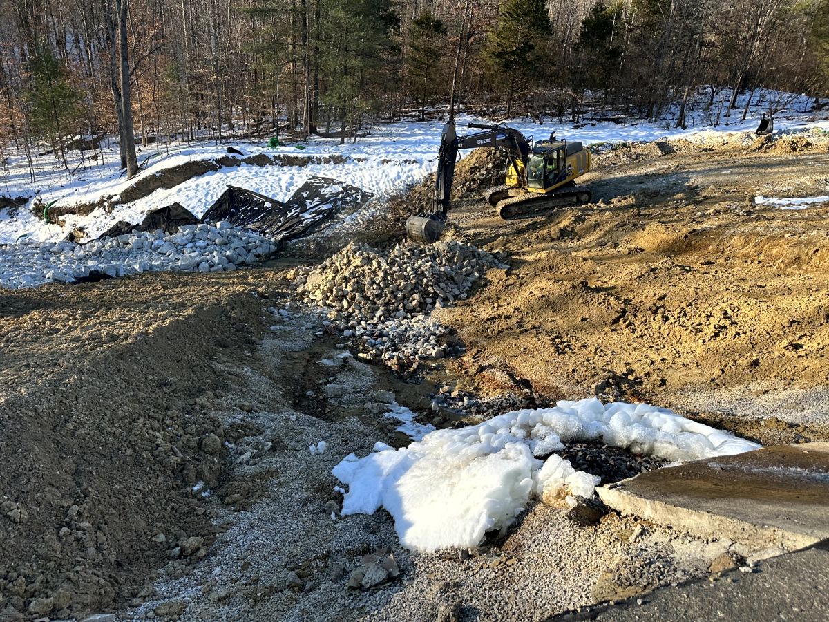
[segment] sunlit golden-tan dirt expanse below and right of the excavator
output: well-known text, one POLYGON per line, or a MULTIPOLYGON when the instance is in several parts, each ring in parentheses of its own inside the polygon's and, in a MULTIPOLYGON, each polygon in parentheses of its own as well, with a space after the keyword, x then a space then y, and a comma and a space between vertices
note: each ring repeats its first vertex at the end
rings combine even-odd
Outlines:
POLYGON ((829 156, 706 149, 596 158, 584 178, 596 202, 545 218, 459 207, 457 235, 512 266, 437 313, 466 343, 469 386, 486 391, 480 374, 497 368, 548 396, 725 411, 764 440, 826 438, 829 209, 746 197, 826 194, 829 156), (781 391, 797 391, 788 412, 781 391), (757 427, 772 414, 788 424, 757 427))

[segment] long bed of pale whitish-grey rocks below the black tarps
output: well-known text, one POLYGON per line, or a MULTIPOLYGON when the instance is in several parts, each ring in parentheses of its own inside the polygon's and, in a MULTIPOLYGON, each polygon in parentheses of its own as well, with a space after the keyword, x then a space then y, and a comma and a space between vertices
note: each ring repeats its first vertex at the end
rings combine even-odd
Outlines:
POLYGON ((0 246, 0 287, 17 289, 73 283, 90 275, 105 278, 160 270, 221 272, 259 263, 276 250, 269 238, 223 221, 182 226, 176 233, 133 231, 82 245, 23 238, 0 246))

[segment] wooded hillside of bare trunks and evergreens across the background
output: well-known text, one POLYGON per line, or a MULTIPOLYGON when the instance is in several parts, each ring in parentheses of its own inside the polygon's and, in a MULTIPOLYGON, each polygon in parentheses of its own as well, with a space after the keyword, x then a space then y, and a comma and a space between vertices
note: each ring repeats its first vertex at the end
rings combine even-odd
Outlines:
POLYGON ((345 139, 431 104, 683 126, 701 85, 718 124, 739 91, 829 92, 829 0, 0 0, 0 41, 0 148, 65 164, 112 132, 129 175, 133 135, 345 139))

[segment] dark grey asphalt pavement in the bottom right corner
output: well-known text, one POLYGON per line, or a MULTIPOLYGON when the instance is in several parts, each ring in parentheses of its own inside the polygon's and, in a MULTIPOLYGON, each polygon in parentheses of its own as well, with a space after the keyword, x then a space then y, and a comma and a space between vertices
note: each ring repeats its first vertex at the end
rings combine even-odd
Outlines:
POLYGON ((556 622, 665 620, 829 620, 829 552, 818 546, 686 586, 555 616, 556 622))

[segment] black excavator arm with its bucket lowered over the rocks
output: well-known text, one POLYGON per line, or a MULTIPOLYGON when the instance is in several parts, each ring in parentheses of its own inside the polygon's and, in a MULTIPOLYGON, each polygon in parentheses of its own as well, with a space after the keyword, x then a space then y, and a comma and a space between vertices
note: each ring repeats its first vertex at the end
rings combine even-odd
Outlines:
MULTIPOLYGON (((521 164, 526 166, 531 145, 524 134, 521 134, 517 129, 509 128, 504 124, 470 123, 468 127, 481 131, 458 137, 453 119, 444 125, 438 153, 438 171, 434 180, 434 212, 410 216, 406 221, 406 234, 411 241, 420 244, 432 244, 438 241, 443 234, 446 212, 452 194, 455 164, 458 162, 458 151, 460 149, 503 148, 507 151, 510 162, 516 171, 520 168, 519 160, 521 164)), ((523 167, 521 167, 521 170, 523 170, 523 167)))

